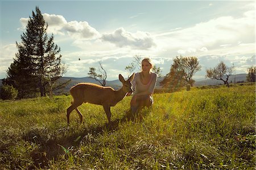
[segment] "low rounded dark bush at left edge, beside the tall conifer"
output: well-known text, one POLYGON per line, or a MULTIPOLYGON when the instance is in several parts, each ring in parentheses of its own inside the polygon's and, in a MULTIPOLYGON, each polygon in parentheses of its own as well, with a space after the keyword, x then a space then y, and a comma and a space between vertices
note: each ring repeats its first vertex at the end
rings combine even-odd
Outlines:
POLYGON ((0 88, 0 98, 15 99, 18 96, 18 90, 12 85, 2 85, 0 88))

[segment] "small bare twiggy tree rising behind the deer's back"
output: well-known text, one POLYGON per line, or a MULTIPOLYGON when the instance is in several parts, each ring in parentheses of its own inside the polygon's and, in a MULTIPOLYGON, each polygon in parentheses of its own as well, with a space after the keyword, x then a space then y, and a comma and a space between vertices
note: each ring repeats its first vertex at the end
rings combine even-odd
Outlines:
POLYGON ((96 73, 96 68, 90 67, 88 75, 89 75, 89 77, 93 78, 94 80, 100 82, 100 84, 102 86, 105 86, 107 74, 106 74, 105 69, 102 67, 101 63, 100 63, 99 70, 100 70, 101 74, 96 73))

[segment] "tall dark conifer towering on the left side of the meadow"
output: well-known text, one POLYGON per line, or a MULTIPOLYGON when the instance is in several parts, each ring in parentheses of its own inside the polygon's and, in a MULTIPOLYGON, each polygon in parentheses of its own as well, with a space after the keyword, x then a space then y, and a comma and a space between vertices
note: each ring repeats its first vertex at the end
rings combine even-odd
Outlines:
POLYGON ((54 43, 53 34, 47 35, 47 28, 48 24, 36 6, 26 32, 21 35, 22 42, 16 42, 18 53, 7 71, 6 83, 19 90, 19 98, 38 90, 41 96, 46 96, 66 71, 65 65, 61 64, 60 47, 54 43))

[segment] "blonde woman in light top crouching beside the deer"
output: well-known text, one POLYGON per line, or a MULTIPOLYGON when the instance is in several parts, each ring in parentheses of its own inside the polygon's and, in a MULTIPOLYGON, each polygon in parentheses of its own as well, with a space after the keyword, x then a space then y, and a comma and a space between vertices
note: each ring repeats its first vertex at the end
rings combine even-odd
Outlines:
MULTIPOLYGON (((134 79, 131 82, 133 84, 134 93, 131 98, 131 113, 134 115, 139 109, 152 105, 155 85, 156 85, 156 73, 152 73, 152 61, 148 58, 142 60, 142 71, 135 73, 134 79)), ((131 95, 131 94, 128 94, 131 95)))

